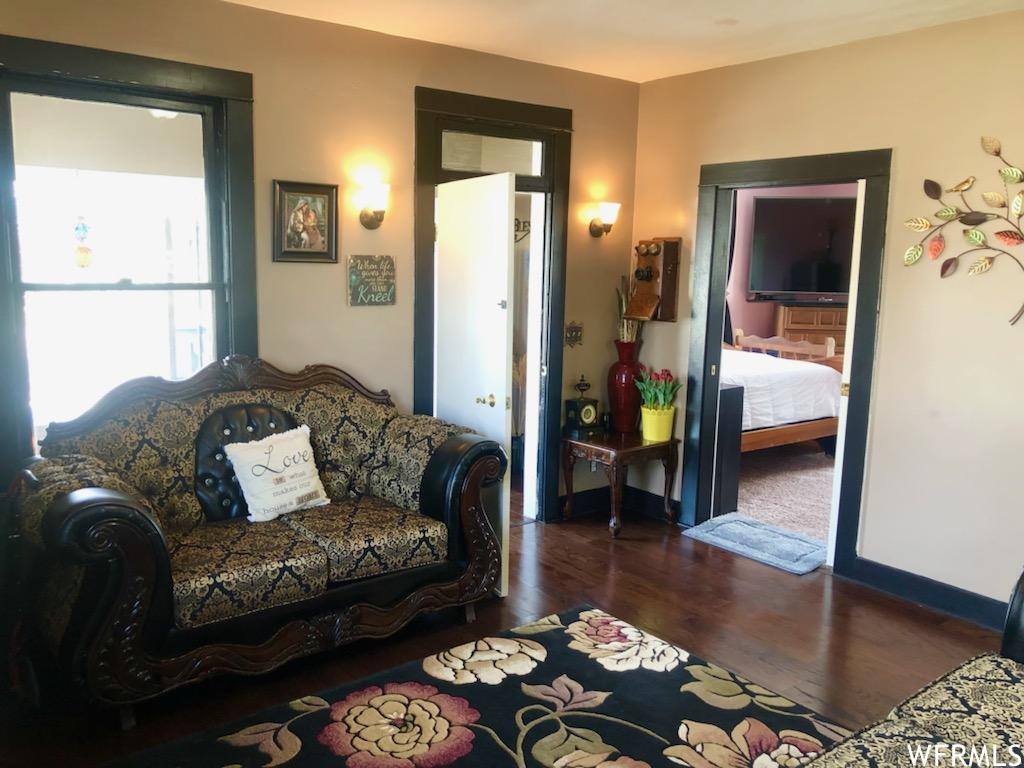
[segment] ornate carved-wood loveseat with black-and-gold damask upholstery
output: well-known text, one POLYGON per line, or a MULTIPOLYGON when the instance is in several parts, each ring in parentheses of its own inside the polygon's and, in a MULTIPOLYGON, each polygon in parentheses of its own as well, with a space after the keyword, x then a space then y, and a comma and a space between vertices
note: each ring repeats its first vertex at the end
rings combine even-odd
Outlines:
MULTIPOLYGON (((470 609, 501 557, 501 446, 344 372, 243 356, 128 382, 50 426, 14 492, 27 626, 95 701, 258 674, 470 609), (223 444, 308 424, 332 504, 251 523, 223 444)), ((471 613, 471 610, 467 611, 471 613)))

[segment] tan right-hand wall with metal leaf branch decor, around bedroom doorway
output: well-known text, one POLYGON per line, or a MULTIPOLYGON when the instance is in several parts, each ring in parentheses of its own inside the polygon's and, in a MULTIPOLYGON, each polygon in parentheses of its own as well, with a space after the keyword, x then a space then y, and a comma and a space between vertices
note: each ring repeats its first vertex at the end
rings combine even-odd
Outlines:
MULTIPOLYGON (((1004 77, 1019 56, 1000 44, 1022 36, 1024 13, 1004 14, 645 83, 637 139, 634 236, 678 232, 688 254, 702 164, 893 148, 860 552, 1000 600, 1024 561, 1024 323, 1007 324, 1024 272, 904 267, 901 222, 936 210, 926 177, 1001 190, 982 134, 1024 163, 1024 101, 1004 77)), ((648 329, 642 356, 685 370, 688 332, 648 329)))

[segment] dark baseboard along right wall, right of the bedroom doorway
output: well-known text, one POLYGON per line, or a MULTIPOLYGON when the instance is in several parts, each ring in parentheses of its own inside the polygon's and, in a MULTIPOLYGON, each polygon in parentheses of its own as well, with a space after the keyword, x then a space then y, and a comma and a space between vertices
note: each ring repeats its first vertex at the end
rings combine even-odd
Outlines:
POLYGON ((893 597, 991 630, 1001 630, 1007 615, 1006 602, 863 557, 854 558, 849 567, 841 567, 837 563, 833 572, 893 597))

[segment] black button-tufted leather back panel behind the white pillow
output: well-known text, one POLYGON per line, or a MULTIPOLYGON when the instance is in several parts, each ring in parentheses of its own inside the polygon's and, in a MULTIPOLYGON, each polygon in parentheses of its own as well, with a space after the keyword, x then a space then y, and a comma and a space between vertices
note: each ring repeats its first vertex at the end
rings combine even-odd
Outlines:
POLYGON ((297 426, 291 414, 263 403, 226 406, 206 418, 196 437, 196 497, 208 522, 249 514, 224 445, 259 440, 297 426))

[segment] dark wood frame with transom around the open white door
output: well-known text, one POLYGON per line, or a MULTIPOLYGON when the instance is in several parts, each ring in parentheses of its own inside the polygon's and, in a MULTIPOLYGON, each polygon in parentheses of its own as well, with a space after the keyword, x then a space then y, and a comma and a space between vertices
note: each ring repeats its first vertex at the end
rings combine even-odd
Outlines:
POLYGON ((440 136, 446 128, 544 142, 542 175, 517 176, 516 191, 540 191, 548 196, 544 228, 536 230, 544 233, 548 244, 542 291, 541 365, 544 373, 538 427, 538 519, 558 519, 561 515, 558 464, 572 112, 417 87, 413 410, 418 414, 432 413, 434 397, 434 188, 444 181, 485 175, 441 169, 440 136))

